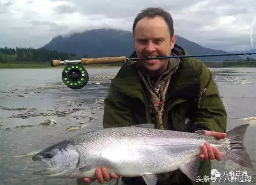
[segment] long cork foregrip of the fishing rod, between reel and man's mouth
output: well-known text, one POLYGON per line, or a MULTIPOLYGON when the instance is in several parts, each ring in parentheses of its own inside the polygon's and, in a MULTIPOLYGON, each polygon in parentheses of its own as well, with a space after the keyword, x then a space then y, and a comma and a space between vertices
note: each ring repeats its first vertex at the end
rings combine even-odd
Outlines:
POLYGON ((102 57, 102 58, 82 58, 81 64, 111 64, 111 63, 125 63, 126 57, 102 57))

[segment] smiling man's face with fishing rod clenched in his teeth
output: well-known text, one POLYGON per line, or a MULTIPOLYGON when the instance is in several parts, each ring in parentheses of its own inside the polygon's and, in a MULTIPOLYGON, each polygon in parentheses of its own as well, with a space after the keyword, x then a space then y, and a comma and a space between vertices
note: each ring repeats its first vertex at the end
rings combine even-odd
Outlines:
MULTIPOLYGON (((168 25, 164 18, 142 18, 134 30, 134 42, 137 57, 170 56, 176 36, 170 39, 168 25)), ((161 74, 166 70, 168 59, 142 60, 140 66, 149 74, 161 74)))

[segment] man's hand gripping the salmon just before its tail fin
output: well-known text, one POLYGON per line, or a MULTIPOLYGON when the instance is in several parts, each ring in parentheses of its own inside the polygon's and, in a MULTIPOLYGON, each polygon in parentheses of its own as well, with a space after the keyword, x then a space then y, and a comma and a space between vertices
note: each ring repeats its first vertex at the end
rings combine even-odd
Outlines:
MULTIPOLYGON (((211 135, 218 139, 224 139, 227 136, 226 133, 208 131, 208 130, 204 131, 204 135, 211 135)), ((208 142, 202 145, 201 151, 202 153, 199 156, 201 160, 217 159, 218 161, 220 161, 222 159, 222 154, 220 153, 220 151, 215 147, 211 147, 208 142)))

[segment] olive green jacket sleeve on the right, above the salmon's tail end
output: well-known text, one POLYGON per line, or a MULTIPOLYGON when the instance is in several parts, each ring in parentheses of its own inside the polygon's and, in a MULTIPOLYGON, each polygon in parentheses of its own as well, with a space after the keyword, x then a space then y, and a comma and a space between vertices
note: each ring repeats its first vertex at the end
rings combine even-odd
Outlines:
POLYGON ((197 130, 209 130, 216 132, 226 132, 227 113, 220 97, 218 87, 214 82, 209 68, 202 62, 199 65, 198 75, 201 84, 201 97, 199 98, 199 107, 196 111, 194 126, 191 132, 197 130))

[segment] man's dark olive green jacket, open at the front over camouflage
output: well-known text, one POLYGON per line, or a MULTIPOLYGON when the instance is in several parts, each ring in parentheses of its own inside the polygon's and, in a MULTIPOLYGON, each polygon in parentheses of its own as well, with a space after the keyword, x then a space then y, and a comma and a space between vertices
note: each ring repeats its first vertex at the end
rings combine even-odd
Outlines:
MULTIPOLYGON (((187 55, 176 44, 172 52, 187 55)), ((135 52, 130 57, 136 57, 135 52)), ((104 99, 103 127, 151 123, 146 91, 135 65, 124 64, 111 81, 108 95, 104 99)), ((227 113, 210 70, 195 58, 180 58, 180 66, 172 75, 166 93, 164 129, 226 132, 226 125, 227 113)), ((203 161, 199 174, 201 179, 205 175, 210 177, 210 170, 210 160, 203 161)), ((209 185, 210 181, 192 184, 209 185)))

